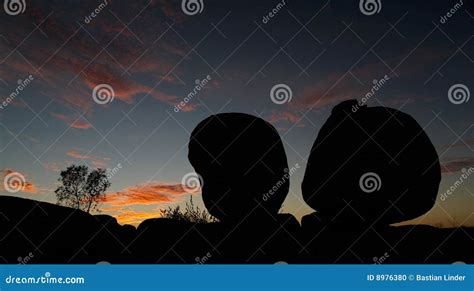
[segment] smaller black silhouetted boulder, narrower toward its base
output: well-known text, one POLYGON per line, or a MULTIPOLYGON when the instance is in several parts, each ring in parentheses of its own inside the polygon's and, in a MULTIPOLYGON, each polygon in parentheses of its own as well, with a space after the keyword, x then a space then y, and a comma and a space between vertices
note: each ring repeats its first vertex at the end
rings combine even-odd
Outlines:
POLYGON ((224 113, 204 119, 191 134, 188 157, 204 181, 204 204, 221 222, 275 215, 288 193, 283 143, 261 118, 224 113))

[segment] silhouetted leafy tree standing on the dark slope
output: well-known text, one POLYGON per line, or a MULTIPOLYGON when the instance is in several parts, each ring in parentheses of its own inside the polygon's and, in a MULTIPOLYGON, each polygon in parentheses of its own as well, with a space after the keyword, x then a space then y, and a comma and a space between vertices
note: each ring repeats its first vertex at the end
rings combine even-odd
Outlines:
POLYGON ((97 210, 110 187, 105 169, 89 172, 87 166, 72 165, 61 171, 61 186, 54 191, 58 205, 69 206, 89 213, 97 210))

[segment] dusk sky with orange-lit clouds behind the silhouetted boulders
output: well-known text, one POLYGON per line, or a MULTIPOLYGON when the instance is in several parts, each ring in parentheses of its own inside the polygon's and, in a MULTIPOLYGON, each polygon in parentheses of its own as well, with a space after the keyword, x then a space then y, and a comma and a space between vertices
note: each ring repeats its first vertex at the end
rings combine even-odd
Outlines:
MULTIPOLYGON (((181 1, 25 1, 18 15, 0 10, 0 171, 26 179, 17 193, 2 183, 2 195, 54 203, 60 170, 76 163, 117 168, 101 208, 121 223, 190 195, 202 207, 181 186, 193 172, 190 132, 211 114, 245 112, 272 123, 300 166, 282 211, 301 218, 312 211, 300 185, 321 125, 385 76, 368 104, 426 130, 443 164, 439 193, 474 167, 474 100, 448 98, 456 84, 474 92, 473 1, 381 0, 373 15, 356 0, 203 0, 195 15, 181 1), (113 100, 94 101, 100 84, 113 100), (277 84, 291 100, 272 101, 277 84)), ((418 221, 474 226, 474 175, 418 221)))

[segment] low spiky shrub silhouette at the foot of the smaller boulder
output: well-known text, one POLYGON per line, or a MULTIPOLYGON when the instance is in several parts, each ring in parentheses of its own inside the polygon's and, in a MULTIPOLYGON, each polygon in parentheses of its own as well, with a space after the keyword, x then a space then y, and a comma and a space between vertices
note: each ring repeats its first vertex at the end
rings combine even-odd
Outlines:
POLYGON ((169 206, 167 209, 161 210, 161 217, 192 223, 218 222, 218 220, 205 209, 201 210, 199 206, 195 206, 193 197, 189 199, 189 202, 186 202, 186 208, 184 210, 181 210, 179 205, 174 208, 169 206))

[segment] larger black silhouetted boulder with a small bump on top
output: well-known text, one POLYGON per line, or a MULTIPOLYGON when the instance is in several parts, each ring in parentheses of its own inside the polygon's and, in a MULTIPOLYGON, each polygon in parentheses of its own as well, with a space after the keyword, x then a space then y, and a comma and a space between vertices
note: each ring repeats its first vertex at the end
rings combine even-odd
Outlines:
POLYGON ((349 100, 322 126, 302 192, 334 223, 389 225, 430 210, 440 180, 438 154, 411 116, 349 100))

